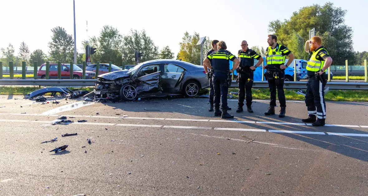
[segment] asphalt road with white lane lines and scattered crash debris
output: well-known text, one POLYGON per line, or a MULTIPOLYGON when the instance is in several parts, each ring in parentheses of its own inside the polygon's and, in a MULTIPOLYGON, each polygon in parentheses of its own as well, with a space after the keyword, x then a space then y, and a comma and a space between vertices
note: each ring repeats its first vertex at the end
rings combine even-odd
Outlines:
POLYGON ((328 102, 325 127, 302 123, 299 101, 283 119, 262 115, 266 100, 252 114, 229 101, 234 120, 204 98, 0 103, 1 196, 368 195, 368 103, 328 102), (59 115, 74 123, 51 125, 59 115))

